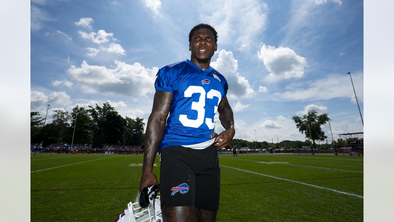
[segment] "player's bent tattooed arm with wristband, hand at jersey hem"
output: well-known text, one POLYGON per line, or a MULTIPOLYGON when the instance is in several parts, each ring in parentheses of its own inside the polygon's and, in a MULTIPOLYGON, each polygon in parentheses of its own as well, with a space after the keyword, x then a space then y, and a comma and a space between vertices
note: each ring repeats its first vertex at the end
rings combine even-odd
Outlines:
POLYGON ((232 109, 227 97, 223 98, 223 100, 220 102, 219 106, 217 107, 217 111, 219 112, 220 123, 225 128, 225 131, 221 132, 216 137, 216 143, 214 144, 217 149, 222 149, 223 147, 227 147, 230 144, 232 138, 235 135, 234 114, 232 113, 232 109), (219 139, 222 140, 220 141, 219 139))

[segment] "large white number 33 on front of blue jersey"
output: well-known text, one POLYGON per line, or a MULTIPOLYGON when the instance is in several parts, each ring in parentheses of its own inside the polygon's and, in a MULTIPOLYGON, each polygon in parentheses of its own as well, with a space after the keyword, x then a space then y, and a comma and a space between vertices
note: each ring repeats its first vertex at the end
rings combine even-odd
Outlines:
MULTIPOLYGON (((205 90, 201 86, 190 86, 185 90, 185 97, 191 97, 193 93, 199 93, 200 94, 200 99, 198 102, 192 102, 191 103, 191 109, 197 111, 197 119, 188 119, 187 115, 179 115, 179 121, 184 125, 188 127, 194 127, 198 128, 203 124, 204 122, 204 117, 205 117, 205 95, 207 99, 213 99, 214 97, 218 98, 217 105, 219 105, 220 100, 221 100, 221 93, 217 90, 211 89, 209 90, 208 93, 205 93, 205 90)), ((214 108, 214 114, 217 111, 217 106, 214 108)), ((208 126, 210 130, 214 128, 214 122, 212 121, 211 118, 205 118, 205 124, 208 126)))

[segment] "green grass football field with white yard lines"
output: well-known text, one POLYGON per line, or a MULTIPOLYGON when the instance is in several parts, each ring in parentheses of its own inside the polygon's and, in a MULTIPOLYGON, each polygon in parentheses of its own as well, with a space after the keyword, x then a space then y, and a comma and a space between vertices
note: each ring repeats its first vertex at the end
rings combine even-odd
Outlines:
MULTIPOLYGON (((32 222, 113 222, 136 201, 143 155, 31 156, 32 222)), ((230 154, 218 222, 363 221, 363 157, 230 154)), ((154 173, 159 177, 160 161, 154 173)))

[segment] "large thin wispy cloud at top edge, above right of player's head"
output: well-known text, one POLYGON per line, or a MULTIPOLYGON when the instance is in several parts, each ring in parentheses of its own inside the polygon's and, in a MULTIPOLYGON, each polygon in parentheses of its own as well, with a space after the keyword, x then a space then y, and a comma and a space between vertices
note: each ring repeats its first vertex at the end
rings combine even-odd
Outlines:
POLYGON ((258 42, 258 35, 266 29, 268 6, 264 2, 220 0, 202 4, 208 7, 202 10, 200 18, 215 27, 219 44, 235 43, 238 49, 247 50, 258 42))

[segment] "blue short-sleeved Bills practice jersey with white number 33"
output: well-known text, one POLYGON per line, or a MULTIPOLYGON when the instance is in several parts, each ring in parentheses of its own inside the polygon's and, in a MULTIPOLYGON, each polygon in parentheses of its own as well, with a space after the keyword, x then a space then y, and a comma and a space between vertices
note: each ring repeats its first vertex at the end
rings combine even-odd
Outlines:
POLYGON ((212 67, 202 70, 190 60, 165 66, 156 76, 156 91, 173 93, 159 153, 165 147, 212 139, 214 115, 229 88, 225 77, 212 67))

